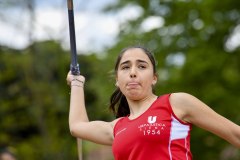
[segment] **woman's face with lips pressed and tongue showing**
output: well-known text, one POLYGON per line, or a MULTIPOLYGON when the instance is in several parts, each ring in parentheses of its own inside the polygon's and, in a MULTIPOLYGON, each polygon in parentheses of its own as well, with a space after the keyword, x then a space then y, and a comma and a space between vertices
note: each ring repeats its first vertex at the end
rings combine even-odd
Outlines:
POLYGON ((127 99, 141 100, 152 95, 157 76, 146 53, 140 48, 132 48, 123 53, 116 81, 127 99))

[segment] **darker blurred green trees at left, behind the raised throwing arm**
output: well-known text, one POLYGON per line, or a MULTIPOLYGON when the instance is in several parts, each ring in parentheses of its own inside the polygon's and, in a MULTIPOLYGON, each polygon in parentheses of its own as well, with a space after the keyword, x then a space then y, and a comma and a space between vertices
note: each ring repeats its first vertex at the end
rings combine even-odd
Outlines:
MULTIPOLYGON (((0 48, 0 148, 13 146, 26 160, 77 158, 76 139, 68 128, 69 63, 69 53, 54 41, 24 50, 0 48)), ((110 120, 106 68, 94 54, 80 55, 79 63, 87 79, 90 119, 110 120)), ((91 146, 84 142, 84 155, 91 153, 91 146)))

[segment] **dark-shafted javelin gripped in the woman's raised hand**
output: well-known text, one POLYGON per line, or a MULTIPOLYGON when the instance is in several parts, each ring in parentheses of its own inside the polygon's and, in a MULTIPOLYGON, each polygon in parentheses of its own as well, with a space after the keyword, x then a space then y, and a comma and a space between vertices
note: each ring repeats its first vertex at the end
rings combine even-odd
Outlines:
MULTIPOLYGON (((80 75, 79 64, 77 62, 73 1, 67 0, 67 5, 68 5, 69 35, 70 35, 70 45, 71 45, 70 70, 73 75, 80 75)), ((82 160, 82 140, 81 139, 77 139, 77 150, 78 150, 78 159, 82 160)))

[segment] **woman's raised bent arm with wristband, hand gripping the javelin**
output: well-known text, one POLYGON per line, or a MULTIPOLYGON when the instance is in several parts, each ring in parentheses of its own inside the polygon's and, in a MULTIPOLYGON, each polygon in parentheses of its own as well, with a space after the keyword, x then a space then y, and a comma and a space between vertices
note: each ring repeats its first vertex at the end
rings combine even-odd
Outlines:
POLYGON ((89 122, 84 100, 85 78, 81 75, 74 76, 69 72, 67 82, 71 86, 69 111, 69 128, 71 134, 74 137, 95 143, 111 145, 113 141, 113 126, 116 121, 89 122))

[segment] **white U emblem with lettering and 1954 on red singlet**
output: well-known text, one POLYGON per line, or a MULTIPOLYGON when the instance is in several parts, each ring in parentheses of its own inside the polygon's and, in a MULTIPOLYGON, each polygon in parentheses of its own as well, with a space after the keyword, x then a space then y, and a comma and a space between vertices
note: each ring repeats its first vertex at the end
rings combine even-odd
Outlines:
POLYGON ((157 116, 148 116, 146 123, 138 126, 144 136, 161 135, 166 125, 157 121, 157 116))

